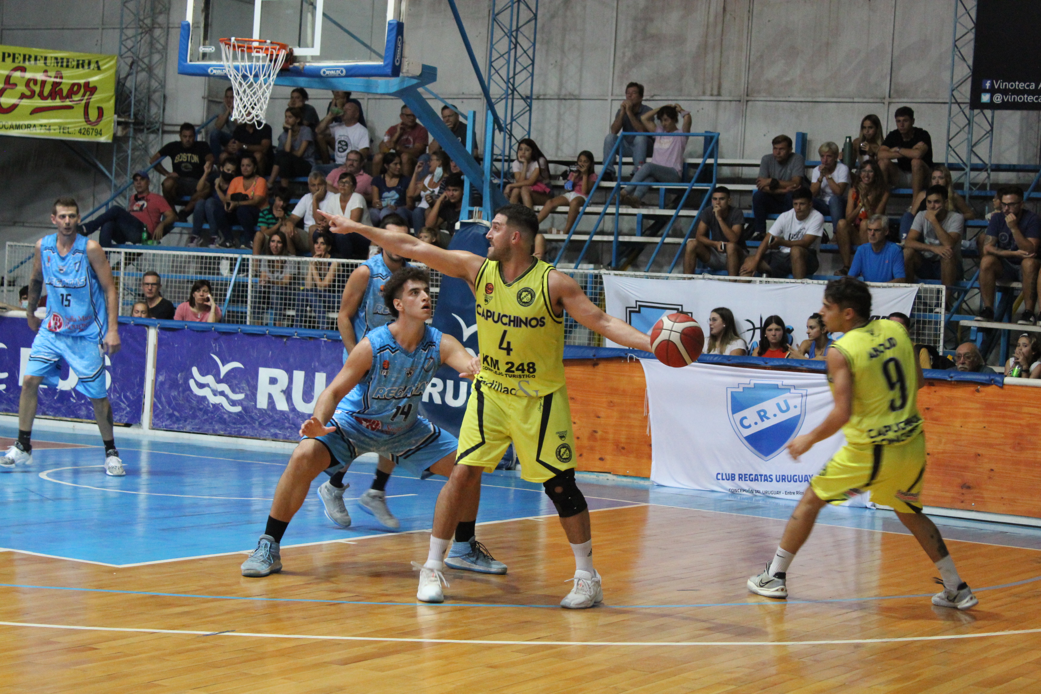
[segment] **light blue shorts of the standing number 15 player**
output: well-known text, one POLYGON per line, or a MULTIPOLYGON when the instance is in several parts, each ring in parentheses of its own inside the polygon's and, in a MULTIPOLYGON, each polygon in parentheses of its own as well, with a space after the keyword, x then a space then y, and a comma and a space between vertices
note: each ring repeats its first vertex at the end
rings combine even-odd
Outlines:
POLYGON ((60 379, 59 364, 62 360, 79 379, 76 381, 76 390, 93 400, 108 395, 105 386, 105 357, 101 345, 85 337, 52 333, 41 326, 32 340, 25 375, 42 376, 44 385, 57 388, 60 379))

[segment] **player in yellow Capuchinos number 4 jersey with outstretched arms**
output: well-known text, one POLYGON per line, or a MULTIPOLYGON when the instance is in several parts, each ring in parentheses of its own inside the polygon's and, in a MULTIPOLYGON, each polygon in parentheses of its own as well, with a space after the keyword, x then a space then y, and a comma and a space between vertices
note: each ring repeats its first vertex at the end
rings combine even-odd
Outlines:
POLYGON ((564 311, 618 344, 650 352, 648 336, 604 313, 575 280, 532 255, 538 217, 523 205, 496 211, 487 258, 445 251, 342 216, 330 219, 336 232, 358 232, 388 253, 465 280, 477 297, 481 371, 459 432, 457 465, 437 497, 416 597, 443 601, 445 550, 459 514, 467 499, 480 493, 481 473, 493 469, 512 442, 520 477, 542 483, 575 554, 575 586, 560 606, 591 608, 603 600, 600 574, 592 565, 589 511, 575 483, 575 435, 564 385, 564 311))

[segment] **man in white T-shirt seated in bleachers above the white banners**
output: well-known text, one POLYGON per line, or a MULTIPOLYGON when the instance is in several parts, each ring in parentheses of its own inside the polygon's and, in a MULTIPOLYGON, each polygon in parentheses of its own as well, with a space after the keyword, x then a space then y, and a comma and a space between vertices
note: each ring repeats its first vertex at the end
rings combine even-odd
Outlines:
POLYGON ((782 212, 756 250, 741 264, 741 275, 752 277, 757 272, 769 277, 802 280, 817 272, 817 248, 824 233, 824 215, 813 209, 813 196, 808 188, 791 194, 792 208, 782 212))

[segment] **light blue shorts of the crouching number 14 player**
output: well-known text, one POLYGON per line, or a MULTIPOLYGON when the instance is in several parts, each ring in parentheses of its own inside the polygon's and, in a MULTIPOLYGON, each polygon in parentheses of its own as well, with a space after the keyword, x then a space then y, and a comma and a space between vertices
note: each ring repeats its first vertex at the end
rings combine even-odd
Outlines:
POLYGON ((418 417, 414 425, 393 436, 374 433, 346 412, 336 412, 330 426, 336 431, 316 438, 332 457, 326 470, 330 473, 347 469, 355 458, 364 453, 375 453, 404 465, 418 477, 423 470, 459 447, 456 437, 424 417, 418 417))

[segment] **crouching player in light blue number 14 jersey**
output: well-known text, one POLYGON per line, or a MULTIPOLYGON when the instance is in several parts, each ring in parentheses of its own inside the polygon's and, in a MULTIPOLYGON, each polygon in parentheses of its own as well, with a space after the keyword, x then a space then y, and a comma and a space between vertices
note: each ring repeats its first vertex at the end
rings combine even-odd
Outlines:
MULTIPOLYGON (((473 378, 480 361, 459 340, 426 324, 433 313, 429 287, 427 272, 420 267, 399 269, 386 281, 384 301, 395 320, 361 338, 344 368, 319 395, 313 416, 300 428, 303 440, 278 482, 264 534, 243 563, 244 576, 265 576, 282 569, 282 536, 311 482, 323 471, 346 470, 361 454, 377 453, 416 475, 427 468, 451 474, 459 442, 420 415, 420 402, 441 364, 473 378)), ((460 516, 471 529, 472 554, 447 565, 506 573, 506 565, 492 559, 473 537, 479 502, 479 497, 467 500, 460 516)))

